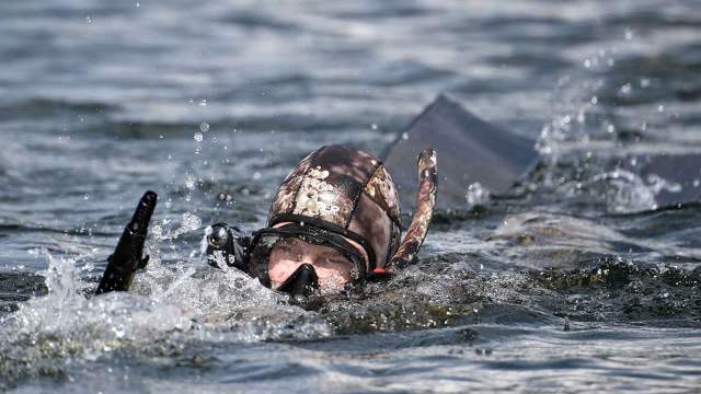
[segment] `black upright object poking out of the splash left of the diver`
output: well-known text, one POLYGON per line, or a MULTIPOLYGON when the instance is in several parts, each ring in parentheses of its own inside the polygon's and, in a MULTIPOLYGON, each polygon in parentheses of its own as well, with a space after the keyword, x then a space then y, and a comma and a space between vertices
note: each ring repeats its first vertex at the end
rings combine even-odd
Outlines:
POLYGON ((146 192, 141 197, 131 221, 124 229, 122 237, 119 237, 117 247, 107 258, 107 268, 102 275, 95 294, 110 291, 128 291, 136 270, 146 267, 148 264, 149 256, 141 257, 141 255, 157 200, 158 195, 153 192, 146 192))

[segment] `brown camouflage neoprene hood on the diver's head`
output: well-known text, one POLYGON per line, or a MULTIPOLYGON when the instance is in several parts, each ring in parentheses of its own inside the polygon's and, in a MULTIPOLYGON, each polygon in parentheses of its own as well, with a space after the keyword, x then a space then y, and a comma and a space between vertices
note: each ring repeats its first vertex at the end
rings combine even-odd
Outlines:
POLYGON ((307 155, 283 181, 267 225, 303 222, 338 233, 363 246, 374 270, 399 248, 399 207, 394 183, 377 158, 329 146, 307 155))

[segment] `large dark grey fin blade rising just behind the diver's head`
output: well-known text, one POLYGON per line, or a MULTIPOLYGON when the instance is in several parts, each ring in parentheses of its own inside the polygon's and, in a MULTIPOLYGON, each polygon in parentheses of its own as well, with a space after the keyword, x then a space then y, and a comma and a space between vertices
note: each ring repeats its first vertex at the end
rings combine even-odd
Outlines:
POLYGON ((429 147, 440 158, 437 208, 444 209, 464 206, 468 186, 475 182, 495 195, 508 192, 539 160, 535 141, 485 123, 440 95, 381 155, 403 211, 415 208, 414 163, 429 147))

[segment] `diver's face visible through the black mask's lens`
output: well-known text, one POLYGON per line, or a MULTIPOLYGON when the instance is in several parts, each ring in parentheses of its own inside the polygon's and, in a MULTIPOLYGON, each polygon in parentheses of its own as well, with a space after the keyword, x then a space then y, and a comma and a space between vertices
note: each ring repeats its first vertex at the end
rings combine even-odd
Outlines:
POLYGON ((314 267, 323 293, 338 292, 350 280, 353 263, 341 252, 288 237, 278 242, 271 252, 267 269, 273 289, 279 288, 302 264, 314 267))

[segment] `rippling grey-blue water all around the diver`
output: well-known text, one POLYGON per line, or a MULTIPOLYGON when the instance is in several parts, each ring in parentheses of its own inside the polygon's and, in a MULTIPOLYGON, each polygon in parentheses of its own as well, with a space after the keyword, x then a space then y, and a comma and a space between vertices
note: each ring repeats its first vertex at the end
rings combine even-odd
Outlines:
POLYGON ((697 392, 701 206, 617 169, 701 149, 699 5, 0 3, 0 390, 697 392), (203 266, 207 223, 255 229, 304 153, 379 153, 439 92, 539 139, 515 196, 319 313, 203 266), (87 299, 147 188, 149 270, 87 299))

